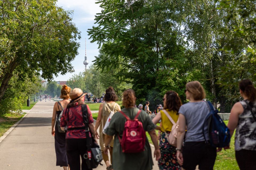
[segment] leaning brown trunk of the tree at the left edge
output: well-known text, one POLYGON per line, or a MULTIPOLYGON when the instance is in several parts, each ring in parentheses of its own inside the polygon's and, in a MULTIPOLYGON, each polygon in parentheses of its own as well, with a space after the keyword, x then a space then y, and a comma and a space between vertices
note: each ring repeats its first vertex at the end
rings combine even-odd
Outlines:
POLYGON ((3 80, 1 82, 1 86, 0 86, 0 101, 2 100, 3 98, 3 95, 5 94, 7 88, 8 88, 8 85, 9 85, 9 80, 11 79, 11 77, 13 76, 13 71, 14 69, 18 66, 16 60, 13 60, 8 69, 6 69, 6 73, 3 77, 3 80))

